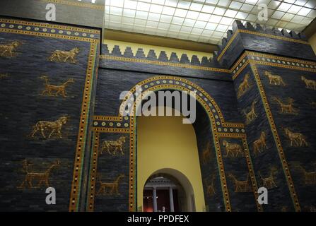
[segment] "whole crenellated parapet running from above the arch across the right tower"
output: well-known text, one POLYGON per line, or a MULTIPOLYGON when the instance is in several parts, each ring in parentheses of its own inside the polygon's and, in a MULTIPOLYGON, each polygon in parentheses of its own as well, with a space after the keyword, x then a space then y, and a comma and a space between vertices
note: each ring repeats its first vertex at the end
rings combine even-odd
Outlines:
MULTIPOLYGON (((100 67, 121 69, 122 65, 134 71, 151 71, 151 73, 166 73, 176 75, 187 73, 201 78, 210 78, 206 71, 223 71, 230 73, 233 64, 245 51, 274 54, 280 57, 291 57, 305 61, 316 61, 315 53, 303 33, 288 32, 278 28, 268 28, 263 25, 243 24, 235 20, 233 30, 228 30, 218 51, 213 57, 201 57, 168 51, 156 51, 143 48, 133 49, 115 45, 109 48, 107 44, 102 47, 100 67), (117 64, 122 62, 122 64, 117 64), (201 72, 201 73, 200 73, 201 72)), ((213 76, 213 75, 212 75, 213 76)))

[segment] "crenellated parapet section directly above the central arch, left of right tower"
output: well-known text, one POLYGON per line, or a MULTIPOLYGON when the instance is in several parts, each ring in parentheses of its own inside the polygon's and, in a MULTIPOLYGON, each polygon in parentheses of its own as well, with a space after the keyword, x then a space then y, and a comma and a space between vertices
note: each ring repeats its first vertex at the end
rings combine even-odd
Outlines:
POLYGON ((101 69, 119 69, 146 73, 160 73, 170 76, 191 76, 194 78, 231 81, 226 60, 221 64, 216 57, 202 57, 187 53, 168 52, 139 47, 122 47, 103 44, 100 55, 101 69))

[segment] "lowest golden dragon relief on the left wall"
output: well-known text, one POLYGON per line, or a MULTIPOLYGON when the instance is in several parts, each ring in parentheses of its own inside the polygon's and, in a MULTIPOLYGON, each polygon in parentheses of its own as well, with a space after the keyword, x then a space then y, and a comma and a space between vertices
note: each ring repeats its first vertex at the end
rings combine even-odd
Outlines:
POLYGON ((26 189, 27 187, 30 189, 40 188, 42 185, 45 188, 49 187, 49 177, 52 173, 52 169, 59 167, 60 162, 56 160, 52 165, 50 165, 44 172, 33 172, 30 171, 27 160, 23 160, 23 172, 25 172, 25 177, 18 189, 26 189), (34 186, 33 182, 37 182, 37 185, 34 186))

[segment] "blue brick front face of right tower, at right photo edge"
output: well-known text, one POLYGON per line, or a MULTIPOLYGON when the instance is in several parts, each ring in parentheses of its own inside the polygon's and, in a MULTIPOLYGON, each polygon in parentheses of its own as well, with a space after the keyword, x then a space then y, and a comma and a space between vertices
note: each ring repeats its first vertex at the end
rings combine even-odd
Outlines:
POLYGON ((267 95, 277 132, 281 138, 281 145, 291 169, 300 206, 302 210, 310 211, 312 206, 315 206, 313 187, 316 182, 314 181, 311 184, 305 183, 304 172, 300 167, 303 167, 306 172, 315 172, 315 105, 312 102, 316 100, 316 90, 306 88, 301 76, 315 81, 315 72, 263 65, 258 65, 257 68, 267 95), (269 71, 273 75, 281 76, 285 85, 270 84, 267 76, 264 76, 266 71, 269 71), (293 113, 282 113, 281 107, 276 102, 275 97, 284 104, 288 104, 288 98, 292 98, 293 113), (305 143, 300 145, 300 142, 295 144, 295 141, 291 145, 291 140, 285 133, 286 128, 290 129, 293 133, 301 133, 307 145, 305 143))

